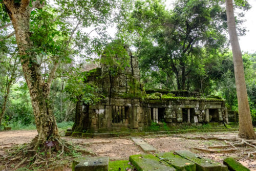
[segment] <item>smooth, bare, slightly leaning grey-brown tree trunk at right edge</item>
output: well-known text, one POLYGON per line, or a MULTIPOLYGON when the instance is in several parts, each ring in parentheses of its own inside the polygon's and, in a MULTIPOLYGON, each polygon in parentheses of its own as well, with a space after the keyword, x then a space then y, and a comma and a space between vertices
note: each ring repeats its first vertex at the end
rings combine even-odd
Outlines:
POLYGON ((236 23, 234 20, 233 2, 226 0, 227 25, 230 37, 233 62, 234 76, 236 78, 237 96, 238 96, 238 112, 239 112, 239 137, 246 139, 256 139, 256 134, 253 131, 250 108, 248 103, 244 66, 242 53, 239 46, 236 23))

